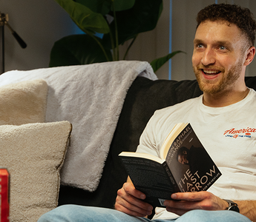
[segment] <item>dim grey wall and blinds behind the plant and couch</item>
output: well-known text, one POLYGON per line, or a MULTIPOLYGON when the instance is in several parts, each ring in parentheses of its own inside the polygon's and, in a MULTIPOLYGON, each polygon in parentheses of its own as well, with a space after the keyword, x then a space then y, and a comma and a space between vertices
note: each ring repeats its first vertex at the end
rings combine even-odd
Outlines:
MULTIPOLYGON (((203 7, 223 2, 249 7, 256 16, 255 0, 163 0, 163 13, 156 29, 139 35, 127 59, 151 62, 169 52, 182 50, 186 53, 175 55, 157 70, 157 76, 174 80, 194 79, 191 55, 195 17, 203 7)), ((22 49, 10 30, 4 27, 5 71, 48 67, 54 42, 81 33, 68 13, 54 0, 0 0, 0 12, 8 14, 10 26, 27 44, 27 48, 22 49)), ((249 65, 246 75, 255 75, 255 70, 256 60, 249 65)))

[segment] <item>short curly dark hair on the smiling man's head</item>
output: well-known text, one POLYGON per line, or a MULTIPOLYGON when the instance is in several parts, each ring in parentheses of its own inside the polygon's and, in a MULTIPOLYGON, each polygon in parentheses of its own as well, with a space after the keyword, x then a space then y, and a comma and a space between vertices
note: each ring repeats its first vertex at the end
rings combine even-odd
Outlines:
POLYGON ((255 44, 256 22, 248 8, 242 8, 237 4, 210 4, 197 14, 197 27, 207 20, 235 24, 246 36, 250 47, 255 44))

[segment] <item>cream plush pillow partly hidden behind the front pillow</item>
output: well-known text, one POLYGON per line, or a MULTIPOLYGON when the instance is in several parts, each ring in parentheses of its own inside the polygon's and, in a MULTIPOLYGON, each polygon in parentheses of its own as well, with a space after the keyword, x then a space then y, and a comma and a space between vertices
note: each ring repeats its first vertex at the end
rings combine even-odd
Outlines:
POLYGON ((45 122, 47 83, 42 79, 0 87, 0 125, 45 122))

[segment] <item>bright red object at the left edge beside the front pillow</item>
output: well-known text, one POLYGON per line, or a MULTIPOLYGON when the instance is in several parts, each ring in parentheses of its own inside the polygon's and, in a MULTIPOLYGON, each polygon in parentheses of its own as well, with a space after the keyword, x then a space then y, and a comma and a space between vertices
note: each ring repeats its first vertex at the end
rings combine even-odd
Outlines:
POLYGON ((7 169, 0 168, 0 221, 9 221, 10 175, 7 169))

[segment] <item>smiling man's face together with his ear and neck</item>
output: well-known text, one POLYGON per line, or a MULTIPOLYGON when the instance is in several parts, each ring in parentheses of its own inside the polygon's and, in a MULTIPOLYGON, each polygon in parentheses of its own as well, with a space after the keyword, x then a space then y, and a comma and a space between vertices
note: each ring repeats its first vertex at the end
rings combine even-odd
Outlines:
POLYGON ((192 64, 200 89, 205 93, 204 104, 227 106, 248 94, 244 74, 255 55, 251 41, 229 21, 200 22, 194 38, 192 64))

